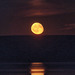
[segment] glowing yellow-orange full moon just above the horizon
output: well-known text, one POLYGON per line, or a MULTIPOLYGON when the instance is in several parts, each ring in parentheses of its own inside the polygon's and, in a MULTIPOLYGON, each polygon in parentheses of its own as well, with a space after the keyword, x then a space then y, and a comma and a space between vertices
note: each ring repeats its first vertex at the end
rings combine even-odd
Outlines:
POLYGON ((32 26, 31 26, 31 31, 36 34, 36 35, 39 35, 39 34, 42 34, 44 32, 44 27, 42 24, 36 22, 36 23, 33 23, 32 26))

